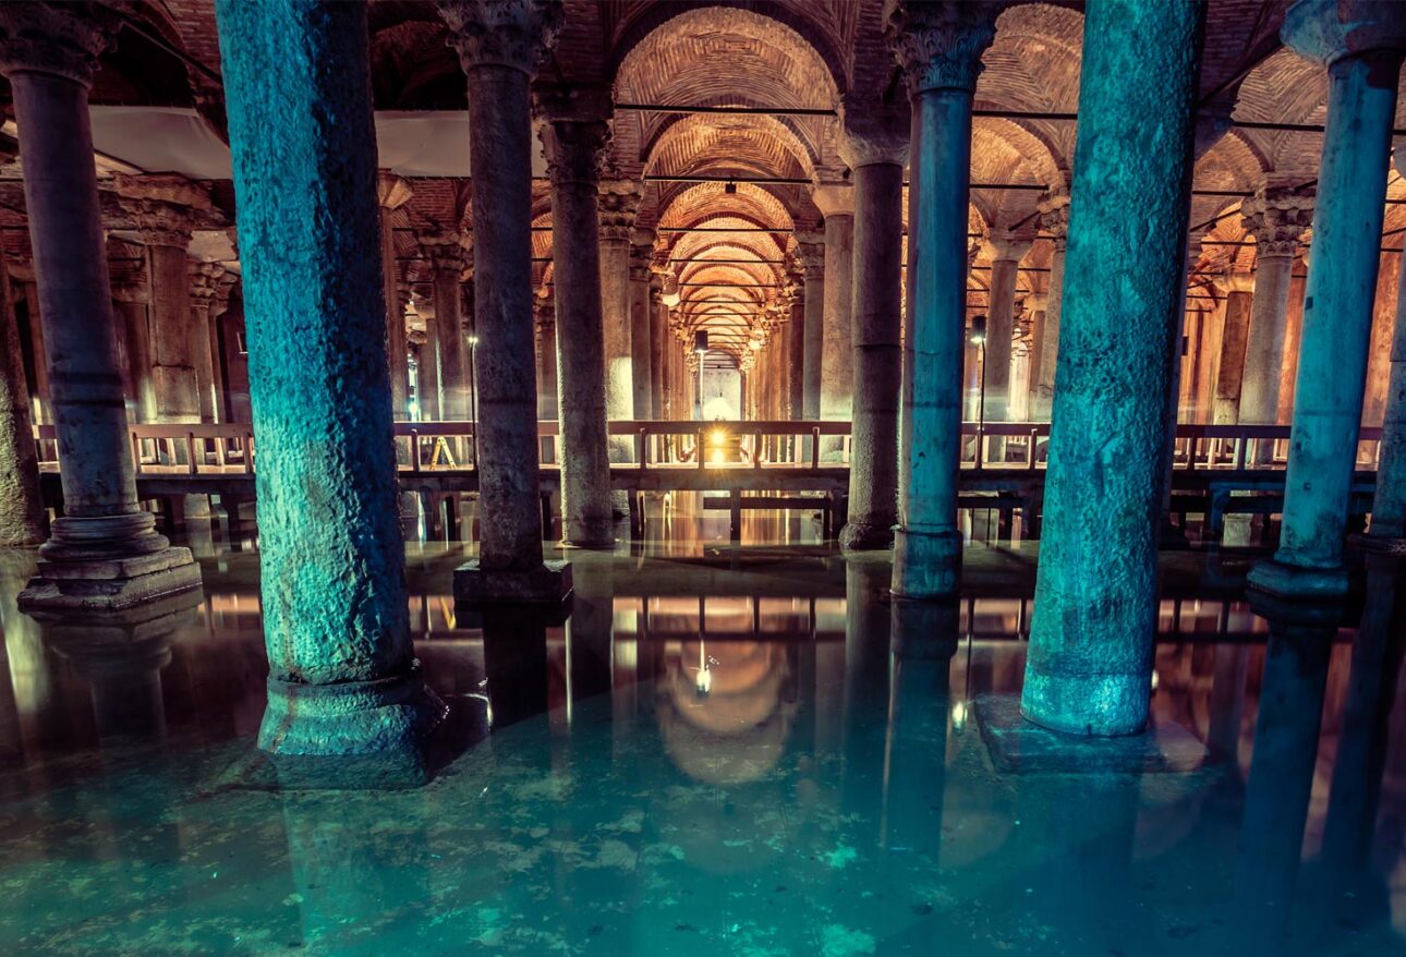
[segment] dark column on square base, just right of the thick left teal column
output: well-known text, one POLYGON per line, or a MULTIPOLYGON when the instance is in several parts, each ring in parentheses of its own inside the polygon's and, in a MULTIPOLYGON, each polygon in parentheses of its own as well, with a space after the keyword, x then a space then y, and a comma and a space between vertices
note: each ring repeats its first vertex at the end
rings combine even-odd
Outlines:
POLYGON ((531 325, 531 103, 555 41, 560 4, 441 0, 468 77, 474 169, 474 330, 478 334, 478 558, 454 573, 470 601, 561 601, 564 562, 543 564, 537 478, 537 377, 531 325))

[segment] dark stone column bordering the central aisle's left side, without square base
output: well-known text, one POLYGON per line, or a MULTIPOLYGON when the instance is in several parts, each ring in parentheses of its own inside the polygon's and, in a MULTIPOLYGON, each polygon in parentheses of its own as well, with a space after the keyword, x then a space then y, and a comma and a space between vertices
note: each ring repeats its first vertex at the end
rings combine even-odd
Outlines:
MULTIPOLYGON (((561 537, 614 544, 606 443, 606 333, 600 280, 600 163, 609 91, 541 97, 540 129, 551 177, 551 257, 557 309, 557 410, 561 422, 561 537), (595 107, 592 110, 591 107, 595 107)), ((619 194, 616 194, 619 195, 619 194)))

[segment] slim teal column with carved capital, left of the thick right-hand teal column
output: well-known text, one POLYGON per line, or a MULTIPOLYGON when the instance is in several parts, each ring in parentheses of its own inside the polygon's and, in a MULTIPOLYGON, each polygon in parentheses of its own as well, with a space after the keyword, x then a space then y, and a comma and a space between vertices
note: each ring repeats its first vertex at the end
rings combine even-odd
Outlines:
MULTIPOLYGON (((972 93, 995 38, 995 3, 903 3, 894 53, 908 77, 908 302, 893 593, 955 594, 962 572, 957 467, 966 329, 972 93)), ((1012 273, 1014 277, 1014 273, 1012 273)), ((1007 336, 1010 360, 1010 336, 1007 336)), ((1008 364, 1008 363, 1007 363, 1008 364)))

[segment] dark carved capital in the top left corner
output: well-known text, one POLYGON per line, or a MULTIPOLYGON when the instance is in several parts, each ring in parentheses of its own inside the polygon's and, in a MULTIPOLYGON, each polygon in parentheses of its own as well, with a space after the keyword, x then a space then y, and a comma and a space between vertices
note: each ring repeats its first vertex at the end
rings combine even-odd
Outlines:
POLYGON ((91 86, 120 25, 105 3, 0 3, 0 74, 52 73, 91 86))

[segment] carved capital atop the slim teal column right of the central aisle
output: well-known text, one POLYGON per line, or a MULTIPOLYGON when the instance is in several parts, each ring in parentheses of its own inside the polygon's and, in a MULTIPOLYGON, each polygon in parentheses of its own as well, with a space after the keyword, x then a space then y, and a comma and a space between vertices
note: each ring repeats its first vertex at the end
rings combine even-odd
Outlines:
POLYGON ((908 79, 908 93, 976 90, 981 53, 995 39, 995 17, 1004 8, 1004 3, 980 0, 887 0, 889 45, 908 79))

